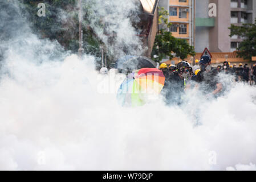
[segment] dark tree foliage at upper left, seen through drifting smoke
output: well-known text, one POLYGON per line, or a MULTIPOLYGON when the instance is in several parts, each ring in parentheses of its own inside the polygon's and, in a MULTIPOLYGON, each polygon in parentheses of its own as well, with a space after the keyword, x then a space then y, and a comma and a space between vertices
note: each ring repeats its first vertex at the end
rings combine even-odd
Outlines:
MULTIPOLYGON (((49 38, 58 40, 58 42, 67 50, 78 52, 79 48, 79 22, 78 8, 76 0, 45 0, 46 16, 39 17, 38 3, 39 0, 19 0, 26 16, 31 22, 32 30, 41 36, 41 38, 49 38)), ((89 7, 83 6, 84 9, 89 7)), ((89 11, 89 10, 88 10, 89 11)), ((85 10, 87 12, 87 10, 85 10)), ((83 17, 83 24, 86 25, 88 19, 86 15, 83 17)), ((100 57, 100 40, 94 34, 94 31, 83 26, 83 48, 85 53, 100 57)))

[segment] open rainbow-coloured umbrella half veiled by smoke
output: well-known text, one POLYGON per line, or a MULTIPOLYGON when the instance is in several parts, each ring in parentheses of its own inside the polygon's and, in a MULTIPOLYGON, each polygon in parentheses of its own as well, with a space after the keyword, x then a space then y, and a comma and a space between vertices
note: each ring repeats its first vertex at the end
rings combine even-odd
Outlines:
POLYGON ((117 101, 122 106, 142 106, 160 94, 164 81, 164 74, 157 68, 134 71, 120 85, 117 101))

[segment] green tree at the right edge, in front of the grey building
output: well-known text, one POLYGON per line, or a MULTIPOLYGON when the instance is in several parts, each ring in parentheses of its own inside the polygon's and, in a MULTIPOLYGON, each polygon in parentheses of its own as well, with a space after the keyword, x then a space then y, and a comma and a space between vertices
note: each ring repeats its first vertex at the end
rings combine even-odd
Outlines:
POLYGON ((256 19, 254 24, 245 23, 242 27, 231 24, 230 37, 238 35, 245 38, 237 48, 237 56, 243 59, 251 60, 252 56, 256 56, 256 19))

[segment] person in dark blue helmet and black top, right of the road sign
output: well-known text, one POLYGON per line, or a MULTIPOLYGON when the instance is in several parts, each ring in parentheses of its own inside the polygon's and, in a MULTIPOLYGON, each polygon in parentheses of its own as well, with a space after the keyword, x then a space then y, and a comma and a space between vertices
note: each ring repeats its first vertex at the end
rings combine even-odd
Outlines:
POLYGON ((222 93, 222 84, 218 81, 218 71, 212 69, 210 56, 204 55, 200 59, 201 71, 197 73, 198 88, 207 98, 218 97, 222 93))

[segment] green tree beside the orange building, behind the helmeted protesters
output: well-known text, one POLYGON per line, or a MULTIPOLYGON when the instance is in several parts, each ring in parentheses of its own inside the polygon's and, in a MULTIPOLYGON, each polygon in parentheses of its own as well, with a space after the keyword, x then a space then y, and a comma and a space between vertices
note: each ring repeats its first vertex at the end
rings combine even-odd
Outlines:
POLYGON ((188 55, 196 55, 194 47, 189 46, 185 39, 178 39, 172 36, 172 33, 168 31, 172 25, 168 23, 169 16, 168 11, 164 10, 164 7, 159 7, 159 31, 157 32, 155 43, 152 50, 152 59, 155 61, 161 61, 164 57, 172 59, 174 54, 181 59, 185 59, 188 55), (157 55, 158 57, 154 57, 157 55))

